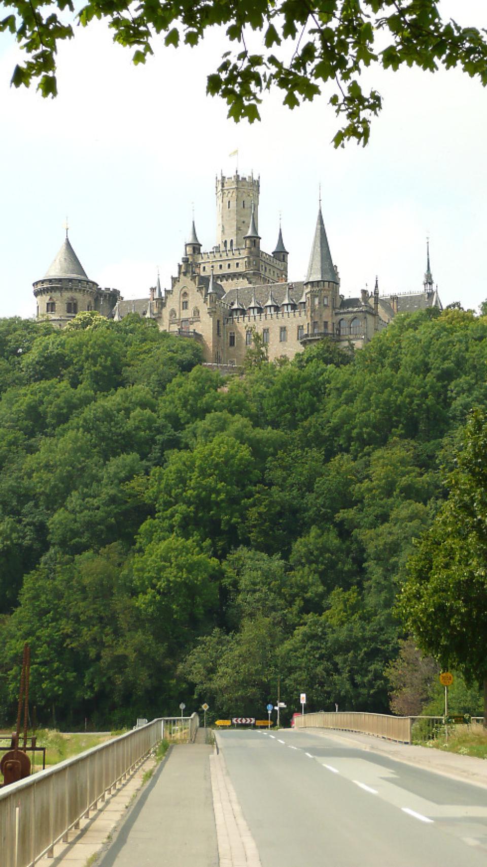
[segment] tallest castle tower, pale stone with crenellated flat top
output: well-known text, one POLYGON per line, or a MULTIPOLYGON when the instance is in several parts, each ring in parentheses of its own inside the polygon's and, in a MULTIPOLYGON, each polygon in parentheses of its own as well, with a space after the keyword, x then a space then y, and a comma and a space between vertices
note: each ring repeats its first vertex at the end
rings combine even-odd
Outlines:
POLYGON ((216 179, 216 244, 220 250, 243 250, 244 238, 250 223, 253 204, 253 219, 259 231, 260 180, 253 174, 248 178, 238 173, 216 179))

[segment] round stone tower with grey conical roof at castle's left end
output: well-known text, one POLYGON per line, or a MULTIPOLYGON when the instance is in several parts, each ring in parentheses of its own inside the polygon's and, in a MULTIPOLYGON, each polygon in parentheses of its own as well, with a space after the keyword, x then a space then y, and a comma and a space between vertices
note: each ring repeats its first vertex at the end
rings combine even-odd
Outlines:
POLYGON ((33 284, 37 299, 37 318, 47 318, 62 328, 81 310, 98 310, 111 316, 120 300, 116 289, 100 289, 87 277, 67 237, 44 277, 33 284))

